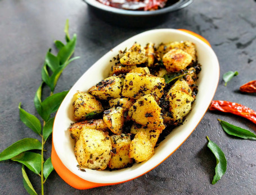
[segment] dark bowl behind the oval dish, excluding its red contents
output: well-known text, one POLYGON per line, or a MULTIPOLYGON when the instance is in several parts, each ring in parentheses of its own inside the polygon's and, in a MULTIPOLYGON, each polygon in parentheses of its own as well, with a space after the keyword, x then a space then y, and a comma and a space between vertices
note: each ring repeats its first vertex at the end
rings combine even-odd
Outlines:
POLYGON ((106 6, 96 0, 83 0, 88 4, 89 10, 97 17, 114 25, 124 27, 150 27, 165 21, 167 14, 180 10, 193 2, 193 0, 179 0, 155 11, 132 11, 106 6))

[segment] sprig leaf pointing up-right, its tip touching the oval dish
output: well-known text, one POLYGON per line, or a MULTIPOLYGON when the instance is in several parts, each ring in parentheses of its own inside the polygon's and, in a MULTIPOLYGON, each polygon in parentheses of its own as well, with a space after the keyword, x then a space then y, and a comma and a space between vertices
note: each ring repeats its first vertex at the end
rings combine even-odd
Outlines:
POLYGON ((44 119, 44 121, 48 121, 50 118, 51 113, 56 112, 57 109, 59 109, 59 106, 69 91, 62 91, 57 94, 53 94, 49 97, 47 97, 42 102, 41 107, 41 117, 44 119))

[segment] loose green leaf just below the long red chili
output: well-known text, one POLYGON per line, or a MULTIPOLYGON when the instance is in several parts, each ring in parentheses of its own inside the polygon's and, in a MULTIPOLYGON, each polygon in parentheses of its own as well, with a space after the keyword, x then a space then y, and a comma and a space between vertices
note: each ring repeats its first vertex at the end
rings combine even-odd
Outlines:
POLYGON ((231 136, 236 136, 244 139, 249 139, 249 140, 256 140, 256 134, 243 129, 241 127, 233 126, 230 123, 227 123, 226 121, 218 119, 219 122, 221 123, 222 129, 227 133, 230 134, 231 136))

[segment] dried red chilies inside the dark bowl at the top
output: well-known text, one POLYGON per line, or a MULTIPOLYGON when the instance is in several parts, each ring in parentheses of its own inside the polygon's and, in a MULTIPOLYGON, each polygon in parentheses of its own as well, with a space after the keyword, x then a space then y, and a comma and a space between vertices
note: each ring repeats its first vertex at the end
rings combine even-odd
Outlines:
POLYGON ((174 4, 178 0, 96 0, 106 6, 123 10, 153 11, 174 4), (168 1, 168 2, 167 2, 168 1))

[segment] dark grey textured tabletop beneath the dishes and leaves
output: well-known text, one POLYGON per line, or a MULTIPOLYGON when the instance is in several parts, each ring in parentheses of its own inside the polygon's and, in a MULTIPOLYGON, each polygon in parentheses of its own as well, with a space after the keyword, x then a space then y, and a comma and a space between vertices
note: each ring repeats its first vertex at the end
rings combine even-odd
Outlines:
MULTIPOLYGON (((256 110, 256 95, 241 94, 242 84, 256 79, 256 2, 197 0, 168 15, 154 27, 188 29, 212 44, 224 72, 239 76, 224 86, 222 78, 215 100, 235 101, 256 110)), ((18 105, 35 114, 33 98, 41 83, 41 67, 53 40, 64 38, 66 18, 70 34, 78 35, 76 56, 57 83, 56 92, 68 90, 103 54, 125 39, 149 29, 111 26, 87 10, 82 1, 0 0, 0 151, 17 140, 34 137, 19 119, 18 105)), ((63 40, 63 39, 62 39, 63 40)), ((190 137, 172 156, 154 170, 130 182, 80 191, 66 184, 55 171, 48 178, 46 194, 256 194, 255 141, 236 139, 224 133, 217 118, 256 131, 256 125, 231 114, 206 112, 190 137), (206 147, 206 136, 227 157, 227 171, 215 185, 215 157, 206 147)), ((46 145, 50 156, 51 141, 46 145)), ((28 171, 40 193, 39 177, 28 171)), ((26 194, 21 165, 0 162, 0 194, 26 194)))

